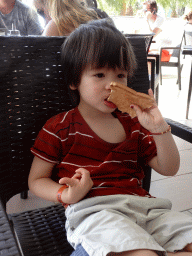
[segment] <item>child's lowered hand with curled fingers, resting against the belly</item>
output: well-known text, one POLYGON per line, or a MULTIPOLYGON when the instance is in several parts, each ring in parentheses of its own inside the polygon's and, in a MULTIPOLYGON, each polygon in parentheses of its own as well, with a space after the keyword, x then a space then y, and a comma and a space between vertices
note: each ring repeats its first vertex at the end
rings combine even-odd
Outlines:
POLYGON ((84 168, 75 171, 72 178, 64 177, 59 180, 59 184, 68 185, 61 196, 61 200, 66 204, 75 204, 83 199, 93 186, 90 172, 84 168))

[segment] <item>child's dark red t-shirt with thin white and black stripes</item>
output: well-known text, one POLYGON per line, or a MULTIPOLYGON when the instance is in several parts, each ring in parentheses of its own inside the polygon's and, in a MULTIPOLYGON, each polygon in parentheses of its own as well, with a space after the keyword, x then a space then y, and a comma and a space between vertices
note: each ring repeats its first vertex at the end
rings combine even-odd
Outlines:
POLYGON ((141 187, 143 164, 156 156, 153 137, 137 118, 115 112, 126 132, 126 140, 109 143, 99 138, 81 116, 78 108, 49 119, 39 132, 32 153, 55 163, 54 176, 72 177, 83 167, 94 182, 86 197, 130 194, 150 196, 141 187))

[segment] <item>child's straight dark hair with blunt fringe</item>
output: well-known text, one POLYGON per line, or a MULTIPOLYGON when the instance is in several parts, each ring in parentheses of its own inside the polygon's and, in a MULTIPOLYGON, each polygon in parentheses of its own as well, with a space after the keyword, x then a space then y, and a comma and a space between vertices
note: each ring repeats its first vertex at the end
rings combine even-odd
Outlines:
POLYGON ((67 85, 78 86, 83 70, 92 68, 122 68, 132 77, 136 59, 132 46, 122 33, 107 20, 80 25, 62 45, 61 58, 67 85))

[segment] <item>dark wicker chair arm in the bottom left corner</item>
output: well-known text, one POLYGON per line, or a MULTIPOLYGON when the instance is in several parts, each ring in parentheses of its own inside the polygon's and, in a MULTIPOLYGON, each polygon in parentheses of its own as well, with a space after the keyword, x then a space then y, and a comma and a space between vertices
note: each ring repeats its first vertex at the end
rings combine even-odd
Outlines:
POLYGON ((9 221, 0 201, 0 255, 20 256, 18 247, 13 236, 9 221))

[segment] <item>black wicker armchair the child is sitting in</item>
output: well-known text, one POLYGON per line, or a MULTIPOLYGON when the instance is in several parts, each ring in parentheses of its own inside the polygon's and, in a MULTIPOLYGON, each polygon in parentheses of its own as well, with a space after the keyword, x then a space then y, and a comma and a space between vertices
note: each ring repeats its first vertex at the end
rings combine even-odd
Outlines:
MULTIPOLYGON (((73 248, 65 234, 65 212, 60 204, 7 215, 6 203, 28 190, 32 162, 30 147, 51 116, 73 107, 60 65, 62 37, 0 37, 0 255, 68 256, 73 248), (22 252, 22 253, 21 253, 22 252)), ((144 40, 130 38, 138 70, 129 86, 149 88, 144 40)), ((172 125, 172 121, 169 123, 172 125)), ((172 126, 177 132, 177 123, 172 126)), ((192 138, 192 129, 179 128, 192 138)), ((181 136, 182 135, 182 136, 181 136)), ((192 142, 192 139, 191 141, 192 142)), ((149 190, 151 172, 143 181, 149 190)))

